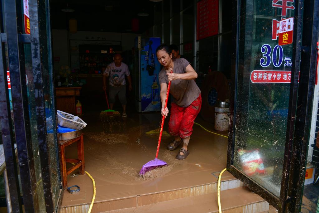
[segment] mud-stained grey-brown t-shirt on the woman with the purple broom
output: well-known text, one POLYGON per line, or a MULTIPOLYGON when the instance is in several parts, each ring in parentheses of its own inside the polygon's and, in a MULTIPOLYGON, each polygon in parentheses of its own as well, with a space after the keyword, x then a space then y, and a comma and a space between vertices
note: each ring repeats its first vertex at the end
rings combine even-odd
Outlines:
MULTIPOLYGON (((186 67, 190 63, 185 58, 174 59, 174 73, 185 73, 186 67)), ((168 76, 166 75, 165 67, 159 72, 159 84, 166 83, 168 85, 168 76)), ((180 107, 188 107, 200 95, 195 80, 172 80, 171 88, 169 91, 174 97, 174 103, 180 107)))

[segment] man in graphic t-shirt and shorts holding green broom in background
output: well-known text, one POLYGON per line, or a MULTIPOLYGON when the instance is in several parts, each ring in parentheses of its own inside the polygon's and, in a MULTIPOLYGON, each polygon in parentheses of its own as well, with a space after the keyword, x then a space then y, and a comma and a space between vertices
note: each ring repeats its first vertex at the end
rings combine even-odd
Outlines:
POLYGON ((123 107, 122 117, 126 115, 126 81, 129 83, 129 90, 132 90, 132 79, 130 76, 130 70, 126 64, 122 62, 123 58, 121 54, 115 54, 113 57, 114 62, 109 64, 103 72, 103 90, 107 89, 107 79, 109 82, 108 95, 110 102, 110 109, 113 110, 115 103, 115 97, 118 95, 119 100, 123 107))

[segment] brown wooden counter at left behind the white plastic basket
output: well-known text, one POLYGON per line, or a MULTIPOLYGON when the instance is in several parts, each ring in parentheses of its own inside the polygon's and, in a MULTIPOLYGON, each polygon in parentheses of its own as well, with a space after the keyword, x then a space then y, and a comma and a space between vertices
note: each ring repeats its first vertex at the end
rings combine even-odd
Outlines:
POLYGON ((56 109, 76 115, 76 96, 82 87, 56 87, 56 109))

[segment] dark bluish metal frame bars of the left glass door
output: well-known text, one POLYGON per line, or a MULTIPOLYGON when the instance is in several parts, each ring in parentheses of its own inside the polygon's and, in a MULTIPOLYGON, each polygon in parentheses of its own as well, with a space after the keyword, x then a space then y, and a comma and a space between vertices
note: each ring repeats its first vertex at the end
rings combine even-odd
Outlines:
MULTIPOLYGON (((32 72, 35 93, 35 105, 37 116, 39 155, 41 161, 41 176, 43 181, 43 193, 45 198, 46 212, 56 212, 59 204, 54 204, 53 192, 51 190, 50 164, 48 159, 46 117, 44 111, 44 94, 42 85, 41 67, 41 44, 40 30, 50 30, 49 24, 46 29, 40 28, 40 21, 49 21, 49 1, 29 0, 30 30, 31 34, 25 34, 23 23, 23 1, 0 0, 0 11, 3 14, 1 20, 1 42, 0 42, 0 122, 4 155, 8 176, 9 192, 12 212, 22 212, 22 205, 26 212, 38 212, 39 202, 33 195, 37 183, 34 177, 34 161, 31 144, 31 132, 28 121, 29 109, 26 96, 26 75, 23 44, 31 44, 32 72), (45 14, 39 14, 39 8, 45 9, 45 14), (41 20, 42 19, 42 20, 41 20), (5 30, 4 30, 5 29, 5 30), (8 82, 5 67, 4 43, 8 45, 9 70, 11 76, 11 93, 13 103, 13 118, 10 112, 8 82), (14 119, 16 118, 16 119, 14 119), (14 121, 15 132, 12 130, 11 119, 14 121), (22 198, 20 196, 17 162, 14 151, 14 134, 18 149, 19 170, 22 184, 22 198)), ((48 44, 48 56, 51 55, 51 44, 48 44)), ((44 57, 48 57, 44 56, 44 57)), ((49 62, 50 83, 53 85, 52 61, 49 62)), ((54 91, 54 90, 53 90, 54 91)), ((54 101, 53 101, 54 105, 54 101)), ((55 111, 55 109, 54 109, 55 111)), ((53 125, 56 126, 55 119, 53 125)), ((56 128, 54 128, 56 134, 56 128)), ((60 171, 58 171, 59 173, 60 171)), ((61 182, 61 181, 60 181, 61 182)), ((61 186, 61 183, 58 183, 61 186)), ((60 190, 61 202, 61 190, 60 190)))

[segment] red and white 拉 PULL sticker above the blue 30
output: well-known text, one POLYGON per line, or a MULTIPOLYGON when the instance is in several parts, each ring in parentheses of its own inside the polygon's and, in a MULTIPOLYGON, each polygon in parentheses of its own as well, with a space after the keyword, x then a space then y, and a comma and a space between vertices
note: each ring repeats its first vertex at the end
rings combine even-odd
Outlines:
POLYGON ((279 45, 293 42, 293 18, 283 19, 279 22, 279 45))

